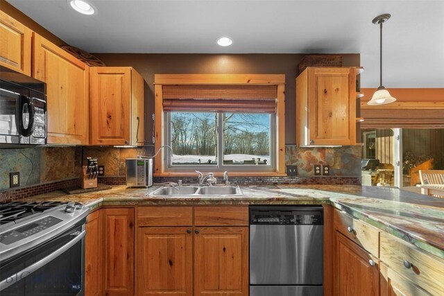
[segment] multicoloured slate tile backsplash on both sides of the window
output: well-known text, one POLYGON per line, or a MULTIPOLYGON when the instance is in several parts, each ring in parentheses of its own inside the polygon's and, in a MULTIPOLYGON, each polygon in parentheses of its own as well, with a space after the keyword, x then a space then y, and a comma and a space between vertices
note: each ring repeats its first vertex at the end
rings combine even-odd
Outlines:
MULTIPOLYGON (((335 148, 298 148, 287 145, 285 164, 298 166, 298 175, 289 177, 239 177, 241 184, 290 183, 290 184, 360 184, 361 146, 335 148), (314 177, 315 164, 328 164, 330 176, 314 177), (310 178, 307 178, 310 177, 310 178)), ((52 182, 73 180, 80 173, 80 159, 97 157, 105 166, 105 177, 99 182, 124 184, 125 159, 137 155, 153 155, 153 147, 33 147, 0 149, 0 193, 12 194, 9 173, 20 172, 20 189, 52 182)), ((157 182, 164 178, 158 177, 157 182)), ((168 178, 165 178, 167 180, 168 178)), ((173 178, 174 179, 174 178, 173 178)), ((177 179, 177 177, 175 178, 177 179)), ((71 181, 69 181, 71 182, 71 181)), ((60 183, 61 184, 61 183, 60 183)), ((56 188, 52 186, 51 188, 56 188)), ((57 189, 54 189, 57 190, 57 189)))

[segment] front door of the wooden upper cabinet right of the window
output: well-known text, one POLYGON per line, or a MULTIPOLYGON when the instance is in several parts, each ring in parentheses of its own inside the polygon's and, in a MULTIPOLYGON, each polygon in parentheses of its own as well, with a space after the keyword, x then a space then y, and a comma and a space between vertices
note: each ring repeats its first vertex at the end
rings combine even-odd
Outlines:
POLYGON ((354 68, 309 69, 309 143, 356 143, 356 90, 354 68))

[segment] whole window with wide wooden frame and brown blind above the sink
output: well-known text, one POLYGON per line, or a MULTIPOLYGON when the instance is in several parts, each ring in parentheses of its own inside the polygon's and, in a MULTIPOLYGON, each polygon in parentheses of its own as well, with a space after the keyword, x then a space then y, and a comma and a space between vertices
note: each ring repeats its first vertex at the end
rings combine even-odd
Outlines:
POLYGON ((285 175, 280 74, 155 75, 155 174, 285 175))

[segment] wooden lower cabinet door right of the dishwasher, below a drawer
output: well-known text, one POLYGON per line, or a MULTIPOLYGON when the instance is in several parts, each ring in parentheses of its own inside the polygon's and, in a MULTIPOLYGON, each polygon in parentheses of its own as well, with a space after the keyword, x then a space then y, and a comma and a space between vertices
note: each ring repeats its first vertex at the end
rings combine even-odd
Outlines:
POLYGON ((335 232, 334 295, 379 295, 379 271, 370 264, 373 259, 359 245, 339 232, 335 232))

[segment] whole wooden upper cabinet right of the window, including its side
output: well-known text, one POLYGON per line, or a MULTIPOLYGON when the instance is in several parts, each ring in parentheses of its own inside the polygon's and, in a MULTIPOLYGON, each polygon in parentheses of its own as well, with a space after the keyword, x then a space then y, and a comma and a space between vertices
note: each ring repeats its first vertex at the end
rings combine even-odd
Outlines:
POLYGON ((356 144, 355 67, 307 67, 296 78, 296 143, 356 144))

